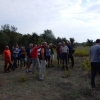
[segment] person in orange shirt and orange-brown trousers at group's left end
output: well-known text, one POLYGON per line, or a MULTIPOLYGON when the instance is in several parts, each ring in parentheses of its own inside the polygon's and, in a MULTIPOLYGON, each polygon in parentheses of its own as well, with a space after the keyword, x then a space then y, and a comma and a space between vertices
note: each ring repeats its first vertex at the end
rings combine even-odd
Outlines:
POLYGON ((3 51, 3 55, 4 55, 4 71, 9 72, 12 66, 12 61, 11 61, 11 52, 8 46, 5 47, 5 50, 3 51), (7 66, 8 63, 9 63, 9 66, 7 66))

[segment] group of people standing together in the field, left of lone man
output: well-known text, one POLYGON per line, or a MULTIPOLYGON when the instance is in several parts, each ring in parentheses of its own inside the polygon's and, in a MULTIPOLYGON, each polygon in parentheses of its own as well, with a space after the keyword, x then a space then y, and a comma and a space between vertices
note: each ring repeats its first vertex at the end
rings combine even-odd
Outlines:
POLYGON ((68 61, 71 59, 71 65, 74 66, 73 47, 69 42, 66 44, 64 41, 59 42, 57 46, 47 42, 43 42, 41 45, 29 44, 29 47, 25 49, 24 46, 18 45, 5 47, 4 54, 4 72, 9 72, 10 68, 15 70, 18 66, 20 69, 22 66, 26 67, 26 72, 35 73, 35 69, 39 72, 39 80, 44 79, 45 69, 52 66, 54 60, 54 49, 57 53, 57 66, 62 64, 62 68, 68 70, 68 61), (8 65, 9 63, 9 65, 8 65), (32 69, 31 68, 32 65, 32 69))

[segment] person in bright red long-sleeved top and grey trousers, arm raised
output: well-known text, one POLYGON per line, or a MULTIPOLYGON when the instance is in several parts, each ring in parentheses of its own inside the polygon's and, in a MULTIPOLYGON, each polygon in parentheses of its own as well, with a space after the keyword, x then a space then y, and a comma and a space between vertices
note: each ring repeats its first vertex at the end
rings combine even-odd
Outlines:
POLYGON ((40 62, 38 58, 38 49, 42 48, 42 46, 35 46, 31 51, 32 57, 32 73, 34 74, 34 68, 36 67, 39 70, 40 62))

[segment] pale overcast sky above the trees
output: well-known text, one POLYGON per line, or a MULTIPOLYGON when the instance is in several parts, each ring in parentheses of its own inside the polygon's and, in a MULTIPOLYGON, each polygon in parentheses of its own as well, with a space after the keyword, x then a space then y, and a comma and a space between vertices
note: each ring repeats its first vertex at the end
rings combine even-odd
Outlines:
POLYGON ((100 38, 100 0, 0 0, 0 26, 27 34, 52 30, 76 42, 100 38))

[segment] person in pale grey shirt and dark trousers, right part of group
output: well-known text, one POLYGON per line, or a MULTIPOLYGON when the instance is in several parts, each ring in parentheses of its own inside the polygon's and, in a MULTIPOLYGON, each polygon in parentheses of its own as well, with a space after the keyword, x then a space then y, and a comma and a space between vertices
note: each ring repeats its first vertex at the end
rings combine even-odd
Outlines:
POLYGON ((62 42, 62 46, 60 47, 60 52, 61 52, 61 56, 62 56, 62 64, 63 64, 62 68, 64 69, 66 67, 66 70, 68 70, 69 49, 68 49, 68 46, 66 45, 66 43, 64 41, 62 42))

